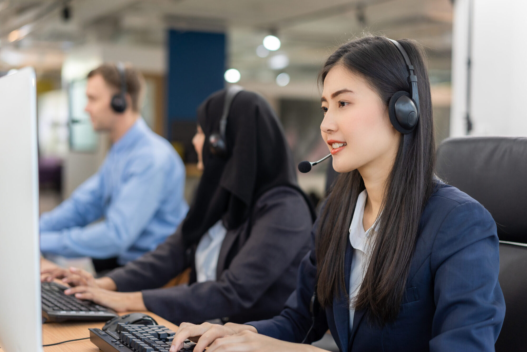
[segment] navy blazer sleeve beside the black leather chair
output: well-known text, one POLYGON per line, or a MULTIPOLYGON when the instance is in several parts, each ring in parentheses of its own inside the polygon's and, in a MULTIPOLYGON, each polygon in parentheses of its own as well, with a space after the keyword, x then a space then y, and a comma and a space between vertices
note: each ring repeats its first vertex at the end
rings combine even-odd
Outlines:
POLYGON ((446 216, 431 254, 431 352, 494 351, 505 315, 499 255, 496 225, 481 204, 463 203, 446 216))

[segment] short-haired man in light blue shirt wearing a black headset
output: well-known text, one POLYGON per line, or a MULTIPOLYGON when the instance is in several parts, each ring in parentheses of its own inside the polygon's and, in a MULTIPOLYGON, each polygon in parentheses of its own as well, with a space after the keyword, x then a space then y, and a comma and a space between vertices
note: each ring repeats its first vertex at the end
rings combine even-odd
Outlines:
POLYGON ((42 214, 43 253, 90 256, 96 271, 112 269, 155 249, 187 214, 183 162, 141 118, 143 86, 121 64, 88 74, 85 110, 112 147, 95 175, 42 214))

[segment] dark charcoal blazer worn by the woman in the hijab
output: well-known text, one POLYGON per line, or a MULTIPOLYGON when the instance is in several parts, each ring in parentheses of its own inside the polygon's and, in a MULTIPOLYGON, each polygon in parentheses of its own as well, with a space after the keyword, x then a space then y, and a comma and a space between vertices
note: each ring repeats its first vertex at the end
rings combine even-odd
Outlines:
POLYGON ((313 220, 304 196, 286 186, 271 188, 249 219, 229 230, 221 245, 217 281, 160 288, 188 267, 181 226, 154 251, 108 276, 118 291, 142 290, 148 310, 180 324, 226 318, 232 322, 271 318, 296 288, 298 265, 310 248, 313 220))

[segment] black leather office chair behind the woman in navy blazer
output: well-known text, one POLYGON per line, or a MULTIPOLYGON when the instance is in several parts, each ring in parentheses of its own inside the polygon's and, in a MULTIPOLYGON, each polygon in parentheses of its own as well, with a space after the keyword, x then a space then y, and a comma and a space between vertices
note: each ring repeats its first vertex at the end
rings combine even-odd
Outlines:
POLYGON ((437 148, 437 175, 494 217, 506 305, 495 348, 527 351, 527 138, 446 139, 437 148))

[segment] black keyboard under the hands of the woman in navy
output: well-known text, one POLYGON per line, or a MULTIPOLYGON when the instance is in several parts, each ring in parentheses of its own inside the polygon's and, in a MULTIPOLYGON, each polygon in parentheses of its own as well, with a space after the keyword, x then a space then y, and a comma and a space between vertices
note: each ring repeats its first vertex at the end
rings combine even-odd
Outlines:
MULTIPOLYGON (((174 331, 162 325, 117 325, 116 331, 101 329, 90 330, 90 341, 104 352, 169 352, 174 338, 174 331)), ((180 351, 191 352, 194 344, 184 341, 180 351)))

